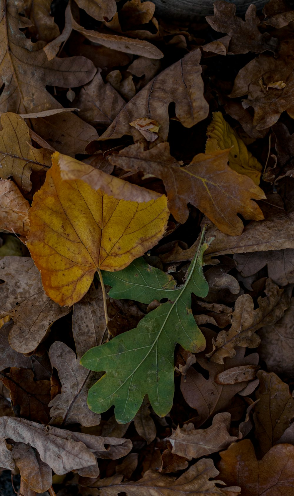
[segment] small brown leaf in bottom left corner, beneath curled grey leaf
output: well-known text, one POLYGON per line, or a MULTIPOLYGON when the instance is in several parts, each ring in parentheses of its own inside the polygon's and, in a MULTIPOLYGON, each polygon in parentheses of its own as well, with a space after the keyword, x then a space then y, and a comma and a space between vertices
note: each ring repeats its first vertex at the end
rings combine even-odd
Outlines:
POLYGON ((41 460, 38 451, 23 442, 16 442, 12 447, 12 456, 20 476, 32 491, 48 491, 52 486, 52 469, 41 460))

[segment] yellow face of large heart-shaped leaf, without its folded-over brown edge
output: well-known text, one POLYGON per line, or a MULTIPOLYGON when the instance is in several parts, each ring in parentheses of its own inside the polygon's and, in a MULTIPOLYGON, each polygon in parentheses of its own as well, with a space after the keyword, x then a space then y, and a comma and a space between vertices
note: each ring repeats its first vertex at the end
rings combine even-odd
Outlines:
POLYGON ((63 181, 58 161, 55 153, 34 196, 27 247, 47 295, 71 306, 88 291, 96 270, 122 269, 156 245, 169 212, 165 195, 138 203, 116 199, 82 180, 63 181))

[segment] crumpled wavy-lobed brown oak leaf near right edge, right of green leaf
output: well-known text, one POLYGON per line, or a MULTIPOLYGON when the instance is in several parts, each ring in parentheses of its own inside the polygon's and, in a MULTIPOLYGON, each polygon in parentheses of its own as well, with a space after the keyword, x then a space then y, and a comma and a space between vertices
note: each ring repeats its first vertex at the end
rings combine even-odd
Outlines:
POLYGON ((213 362, 224 363, 225 357, 235 357, 235 346, 256 348, 260 337, 255 332, 267 323, 277 322, 284 311, 290 306, 293 287, 284 289, 267 279, 265 298, 258 298, 259 308, 254 310, 254 302, 250 295, 238 297, 232 315, 232 326, 229 331, 221 331, 216 339, 212 340, 213 350, 206 355, 213 362))

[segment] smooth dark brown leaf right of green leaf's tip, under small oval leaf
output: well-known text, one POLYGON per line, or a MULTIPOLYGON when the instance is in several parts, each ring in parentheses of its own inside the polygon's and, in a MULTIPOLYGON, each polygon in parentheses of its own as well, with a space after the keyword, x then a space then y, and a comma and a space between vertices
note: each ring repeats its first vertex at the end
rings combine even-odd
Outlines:
MULTIPOLYGON (((210 329, 201 327, 206 341, 209 343, 216 335, 210 329)), ((206 378, 202 373, 197 372, 193 367, 187 371, 186 379, 181 378, 181 392, 185 401, 198 413, 197 426, 201 426, 209 417, 216 413, 228 409, 232 398, 239 391, 244 389, 247 382, 235 384, 217 384, 215 377, 220 372, 229 371, 231 368, 240 365, 257 365, 258 355, 252 353, 244 358, 245 348, 237 348, 234 358, 225 358, 224 365, 215 362, 208 362, 205 358, 205 351, 197 354, 197 363, 209 372, 206 378)))

